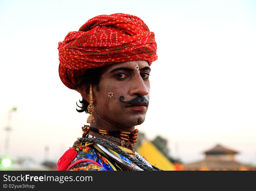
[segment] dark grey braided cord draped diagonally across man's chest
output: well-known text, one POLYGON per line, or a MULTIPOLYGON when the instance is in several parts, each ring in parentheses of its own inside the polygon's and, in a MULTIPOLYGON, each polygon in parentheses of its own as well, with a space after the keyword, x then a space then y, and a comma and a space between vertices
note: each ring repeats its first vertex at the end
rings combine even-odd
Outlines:
POLYGON ((131 160, 131 162, 133 162, 134 164, 136 164, 138 167, 140 167, 143 170, 161 170, 155 166, 152 165, 152 168, 144 163, 142 163, 141 161, 132 158, 128 153, 126 153, 125 151, 123 151, 122 149, 120 149, 117 145, 113 144, 112 142, 102 139, 102 138, 80 138, 79 139, 80 142, 93 142, 93 143, 98 143, 101 145, 104 145, 104 147, 111 149, 113 151, 115 151, 116 153, 126 157, 127 159, 131 160))

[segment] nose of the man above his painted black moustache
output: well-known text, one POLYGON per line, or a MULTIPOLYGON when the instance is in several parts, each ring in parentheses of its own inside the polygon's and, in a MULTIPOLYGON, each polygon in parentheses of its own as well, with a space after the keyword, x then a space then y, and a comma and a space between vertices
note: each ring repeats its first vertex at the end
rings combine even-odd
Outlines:
POLYGON ((130 89, 131 96, 145 96, 149 93, 149 86, 145 84, 141 76, 134 79, 130 89))

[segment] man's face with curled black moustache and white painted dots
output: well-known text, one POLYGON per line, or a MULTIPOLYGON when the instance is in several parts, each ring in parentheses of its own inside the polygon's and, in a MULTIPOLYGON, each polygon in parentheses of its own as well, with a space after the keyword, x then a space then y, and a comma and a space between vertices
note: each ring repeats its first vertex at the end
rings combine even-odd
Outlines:
POLYGON ((124 128, 143 123, 149 101, 149 74, 145 60, 110 65, 101 76, 99 91, 93 87, 98 119, 124 128))

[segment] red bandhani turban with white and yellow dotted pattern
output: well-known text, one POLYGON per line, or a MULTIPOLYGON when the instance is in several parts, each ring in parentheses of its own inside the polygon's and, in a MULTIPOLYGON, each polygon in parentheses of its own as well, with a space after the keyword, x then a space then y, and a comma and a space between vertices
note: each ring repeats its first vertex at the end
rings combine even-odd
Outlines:
POLYGON ((139 17, 122 13, 88 20, 79 31, 69 32, 58 50, 59 76, 70 89, 76 89, 86 69, 132 60, 151 65, 157 60, 154 33, 139 17))

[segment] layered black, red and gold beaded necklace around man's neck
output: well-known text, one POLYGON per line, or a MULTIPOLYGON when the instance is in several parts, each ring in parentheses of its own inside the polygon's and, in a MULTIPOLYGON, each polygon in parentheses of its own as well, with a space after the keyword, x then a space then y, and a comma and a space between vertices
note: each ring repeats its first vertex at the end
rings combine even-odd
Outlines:
POLYGON ((108 131, 108 130, 94 128, 89 125, 84 125, 82 127, 82 131, 83 131, 82 138, 85 138, 86 136, 88 136, 89 131, 94 131, 94 132, 97 132, 100 135, 104 136, 107 140, 112 140, 114 142, 121 144, 122 147, 127 148, 127 147, 131 146, 131 150, 132 150, 133 154, 135 154, 134 143, 137 142, 138 129, 135 129, 133 132, 108 131))

